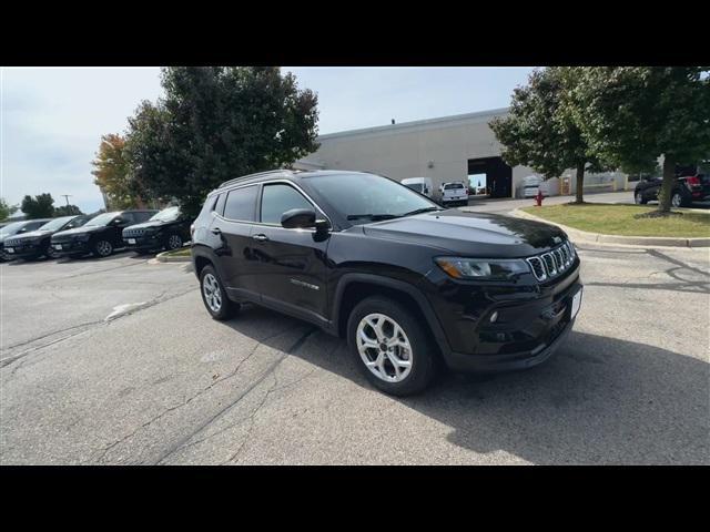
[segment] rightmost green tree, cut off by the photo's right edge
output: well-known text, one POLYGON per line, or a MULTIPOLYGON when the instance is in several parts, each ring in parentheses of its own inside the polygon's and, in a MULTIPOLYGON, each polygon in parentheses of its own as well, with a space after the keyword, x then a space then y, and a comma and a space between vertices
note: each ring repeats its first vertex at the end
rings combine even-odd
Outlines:
POLYGON ((626 171, 662 157, 659 212, 670 212, 677 164, 710 155, 707 66, 579 69, 574 119, 590 149, 626 171))

